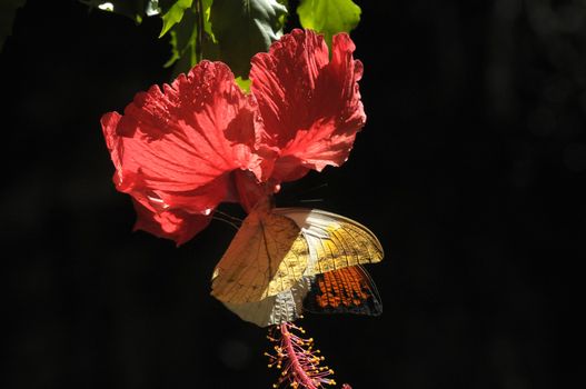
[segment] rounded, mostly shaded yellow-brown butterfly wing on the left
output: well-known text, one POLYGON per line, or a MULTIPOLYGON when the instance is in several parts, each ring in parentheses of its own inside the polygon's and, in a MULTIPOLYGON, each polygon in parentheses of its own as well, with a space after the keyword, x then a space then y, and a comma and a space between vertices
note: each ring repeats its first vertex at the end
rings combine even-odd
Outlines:
POLYGON ((251 212, 213 271, 211 295, 235 305, 277 296, 299 282, 308 258, 307 241, 291 219, 251 212))

